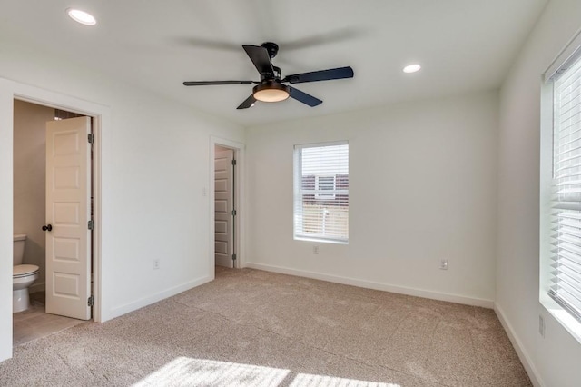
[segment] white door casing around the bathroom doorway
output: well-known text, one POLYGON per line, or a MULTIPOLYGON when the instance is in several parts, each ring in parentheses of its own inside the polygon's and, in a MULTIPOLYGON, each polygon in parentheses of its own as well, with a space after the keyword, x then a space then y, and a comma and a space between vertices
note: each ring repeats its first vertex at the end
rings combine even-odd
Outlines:
MULTIPOLYGON (((14 236, 13 208, 14 208, 14 101, 43 105, 61 109, 76 114, 91 117, 94 127, 93 144, 93 191, 94 191, 94 306, 93 320, 102 322, 109 316, 109 298, 106 293, 106 283, 103 281, 103 215, 102 215, 102 171, 103 171, 103 144, 107 142, 105 134, 110 133, 111 108, 104 104, 97 104, 71 95, 56 93, 30 84, 23 84, 0 78, 0 213, 8 216, 0 217, 2 241, 0 243, 0 261, 2 267, 0 284, 4 289, 10 289, 0 294, 0 359, 8 359, 13 348, 13 251, 14 236), (9 263, 10 262, 10 263, 9 263), (10 283, 10 285, 8 285, 10 283), (7 286, 5 286, 7 285, 7 286)), ((213 261, 213 259, 212 259, 213 261)), ((86 300, 85 300, 86 302, 86 300)))

